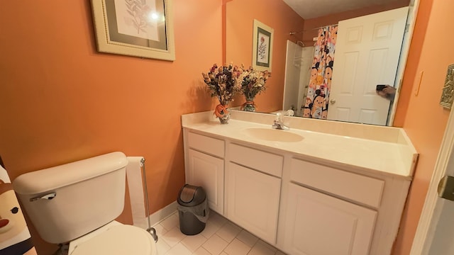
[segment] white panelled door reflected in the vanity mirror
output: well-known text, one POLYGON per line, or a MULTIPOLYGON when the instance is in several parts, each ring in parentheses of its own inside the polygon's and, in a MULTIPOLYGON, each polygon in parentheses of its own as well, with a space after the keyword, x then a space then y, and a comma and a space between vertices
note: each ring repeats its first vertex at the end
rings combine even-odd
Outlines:
POLYGON ((339 22, 330 95, 336 99, 330 101, 328 120, 387 124, 391 101, 375 89, 377 84, 395 84, 408 10, 339 22))

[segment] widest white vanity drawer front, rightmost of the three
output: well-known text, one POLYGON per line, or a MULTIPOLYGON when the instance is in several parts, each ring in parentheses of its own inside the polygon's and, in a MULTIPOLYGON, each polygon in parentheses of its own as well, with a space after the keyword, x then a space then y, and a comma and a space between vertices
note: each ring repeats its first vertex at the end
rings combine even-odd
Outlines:
POLYGON ((300 159, 292 159, 290 179, 375 208, 380 206, 384 188, 382 180, 304 162, 300 159))

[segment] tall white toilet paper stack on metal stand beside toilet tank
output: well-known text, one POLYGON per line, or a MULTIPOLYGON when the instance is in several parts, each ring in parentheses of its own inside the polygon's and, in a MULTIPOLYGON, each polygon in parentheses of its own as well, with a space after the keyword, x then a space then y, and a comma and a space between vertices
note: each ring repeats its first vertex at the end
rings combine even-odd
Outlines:
POLYGON ((133 225, 147 229, 147 217, 145 213, 145 200, 143 196, 142 166, 140 161, 143 157, 128 157, 126 176, 128 179, 129 198, 133 214, 133 225))

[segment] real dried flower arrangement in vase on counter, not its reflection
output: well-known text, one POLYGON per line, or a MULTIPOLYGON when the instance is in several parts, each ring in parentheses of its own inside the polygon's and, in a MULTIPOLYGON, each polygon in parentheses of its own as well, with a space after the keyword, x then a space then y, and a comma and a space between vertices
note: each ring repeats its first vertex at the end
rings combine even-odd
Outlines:
POLYGON ((218 118, 228 115, 226 106, 233 101, 233 96, 241 89, 243 71, 243 68, 233 64, 221 67, 214 64, 208 73, 202 73, 211 96, 218 98, 219 104, 214 111, 218 118))

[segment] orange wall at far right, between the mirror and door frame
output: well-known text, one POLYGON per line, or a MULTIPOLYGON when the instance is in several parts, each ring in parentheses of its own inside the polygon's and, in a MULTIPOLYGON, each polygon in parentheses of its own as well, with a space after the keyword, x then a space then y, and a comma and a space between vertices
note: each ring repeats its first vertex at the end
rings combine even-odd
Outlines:
POLYGON ((445 47, 446 42, 454 40, 453 33, 445 32, 451 30, 451 24, 454 21, 453 8, 454 1, 425 0, 421 1, 419 6, 415 27, 417 36, 411 41, 410 47, 411 59, 416 62, 409 62, 404 76, 404 80, 409 79, 413 83, 411 84, 413 89, 406 90, 409 94, 409 103, 404 129, 420 153, 420 157, 394 254, 409 254, 448 122, 450 112, 439 106, 438 102, 446 69, 449 64, 454 63, 454 52, 445 47), (422 34, 425 34, 423 38, 421 38, 422 34), (414 55, 419 55, 419 59, 414 55), (423 78, 419 94, 416 96, 414 89, 418 85, 418 75, 421 72, 423 72, 423 78))

